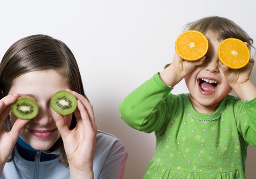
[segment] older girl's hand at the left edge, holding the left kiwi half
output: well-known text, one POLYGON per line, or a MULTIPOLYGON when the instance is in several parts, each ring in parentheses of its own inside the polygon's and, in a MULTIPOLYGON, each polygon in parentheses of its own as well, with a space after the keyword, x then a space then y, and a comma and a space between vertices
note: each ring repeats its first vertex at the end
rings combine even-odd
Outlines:
POLYGON ((5 119, 10 113, 11 104, 16 101, 19 95, 8 95, 0 100, 0 173, 8 160, 15 143, 17 142, 18 135, 22 128, 29 122, 29 120, 17 119, 13 124, 10 131, 5 131, 3 128, 5 119))

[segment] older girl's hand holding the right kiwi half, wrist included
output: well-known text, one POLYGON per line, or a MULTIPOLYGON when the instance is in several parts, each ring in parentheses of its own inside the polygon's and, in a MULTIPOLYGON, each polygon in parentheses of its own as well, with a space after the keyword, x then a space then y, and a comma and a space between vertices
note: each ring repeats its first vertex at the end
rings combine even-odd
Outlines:
POLYGON ((93 107, 82 95, 68 91, 77 98, 77 109, 74 111, 77 125, 73 130, 70 130, 63 116, 58 115, 56 126, 63 140, 71 178, 79 178, 79 174, 81 178, 84 176, 93 178, 92 166, 97 134, 93 107))

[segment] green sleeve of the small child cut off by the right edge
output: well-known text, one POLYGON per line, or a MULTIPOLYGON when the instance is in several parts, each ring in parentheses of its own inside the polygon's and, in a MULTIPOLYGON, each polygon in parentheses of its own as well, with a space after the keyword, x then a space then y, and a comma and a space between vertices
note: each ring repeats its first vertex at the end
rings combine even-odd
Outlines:
POLYGON ((256 98, 242 101, 242 104, 247 117, 247 119, 242 118, 243 122, 240 123, 243 138, 251 146, 256 146, 256 98))

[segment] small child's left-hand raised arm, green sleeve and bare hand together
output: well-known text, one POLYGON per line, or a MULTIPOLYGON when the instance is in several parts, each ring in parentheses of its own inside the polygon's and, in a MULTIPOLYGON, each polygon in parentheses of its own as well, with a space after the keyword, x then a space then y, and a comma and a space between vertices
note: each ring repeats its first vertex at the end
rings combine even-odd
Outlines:
POLYGON ((205 57, 196 62, 188 62, 175 54, 171 65, 144 82, 120 103, 120 118, 131 127, 144 132, 160 129, 172 115, 170 110, 173 99, 169 96, 172 87, 196 65, 203 63, 204 59, 205 57))

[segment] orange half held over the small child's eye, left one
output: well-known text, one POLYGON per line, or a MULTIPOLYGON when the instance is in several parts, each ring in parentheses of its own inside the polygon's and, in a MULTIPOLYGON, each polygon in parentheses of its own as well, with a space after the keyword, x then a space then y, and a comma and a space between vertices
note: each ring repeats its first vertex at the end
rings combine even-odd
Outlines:
POLYGON ((205 56, 208 46, 208 40, 204 34, 195 30, 183 32, 175 41, 176 52, 187 61, 196 61, 205 56))

